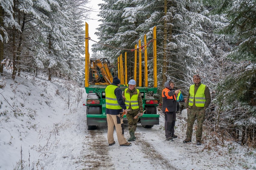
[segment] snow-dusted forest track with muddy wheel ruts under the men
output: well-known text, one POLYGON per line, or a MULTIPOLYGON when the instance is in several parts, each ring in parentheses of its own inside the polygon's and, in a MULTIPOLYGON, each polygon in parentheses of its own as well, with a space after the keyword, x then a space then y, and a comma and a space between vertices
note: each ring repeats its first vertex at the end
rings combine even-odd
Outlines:
MULTIPOLYGON (((184 144, 183 136, 166 141, 160 125, 147 129, 138 124, 137 139, 130 147, 119 146, 115 131, 116 144, 108 146, 106 126, 86 129, 86 133, 84 145, 88 149, 84 154, 84 169, 237 169, 236 158, 208 150, 206 144, 184 144)), ((126 125, 126 139, 129 138, 127 133, 126 125)))

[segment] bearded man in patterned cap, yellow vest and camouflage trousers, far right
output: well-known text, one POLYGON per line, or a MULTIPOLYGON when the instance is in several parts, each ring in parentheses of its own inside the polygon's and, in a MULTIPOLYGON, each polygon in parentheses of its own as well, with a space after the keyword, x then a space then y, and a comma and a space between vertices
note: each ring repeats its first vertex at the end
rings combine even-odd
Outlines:
POLYGON ((199 75, 194 75, 193 81, 194 84, 189 88, 187 102, 185 105, 187 108, 187 137, 183 142, 191 142, 193 125, 195 118, 197 117, 196 142, 197 145, 201 145, 205 111, 211 103, 211 94, 209 88, 206 85, 201 84, 201 78, 199 75))

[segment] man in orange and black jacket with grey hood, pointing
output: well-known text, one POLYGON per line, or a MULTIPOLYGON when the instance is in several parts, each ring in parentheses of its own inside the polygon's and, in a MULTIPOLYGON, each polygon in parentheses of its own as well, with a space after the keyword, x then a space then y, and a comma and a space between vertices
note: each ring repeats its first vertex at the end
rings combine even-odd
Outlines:
POLYGON ((164 113, 164 129, 165 129, 165 137, 166 140, 173 141, 173 138, 177 138, 178 136, 174 134, 174 126, 176 122, 176 112, 178 107, 177 102, 177 94, 181 91, 181 89, 174 89, 173 81, 166 81, 164 83, 166 87, 162 91, 162 111, 164 113))

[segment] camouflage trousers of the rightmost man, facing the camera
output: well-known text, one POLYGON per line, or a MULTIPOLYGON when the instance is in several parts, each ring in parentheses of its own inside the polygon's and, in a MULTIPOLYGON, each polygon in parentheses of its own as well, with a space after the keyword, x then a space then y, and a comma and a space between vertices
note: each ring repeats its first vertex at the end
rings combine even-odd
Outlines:
POLYGON ((193 133, 193 125, 195 123, 195 119, 197 117, 197 131, 196 131, 196 140, 202 139, 202 133, 203 133, 203 122, 205 120, 205 110, 204 108, 200 110, 195 109, 188 109, 187 111, 187 138, 192 138, 193 133))

